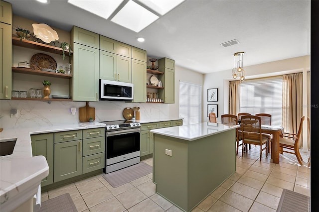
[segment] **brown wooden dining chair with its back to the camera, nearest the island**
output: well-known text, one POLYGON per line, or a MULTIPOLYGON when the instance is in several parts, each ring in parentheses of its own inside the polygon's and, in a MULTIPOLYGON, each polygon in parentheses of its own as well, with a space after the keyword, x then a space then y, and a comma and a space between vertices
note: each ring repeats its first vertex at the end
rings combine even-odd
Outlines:
POLYGON ((263 150, 266 150, 266 157, 268 157, 268 139, 262 136, 260 117, 256 115, 241 116, 241 131, 243 136, 242 156, 247 149, 247 144, 254 144, 260 146, 260 161, 263 150), (263 147, 264 145, 265 147, 263 147))

